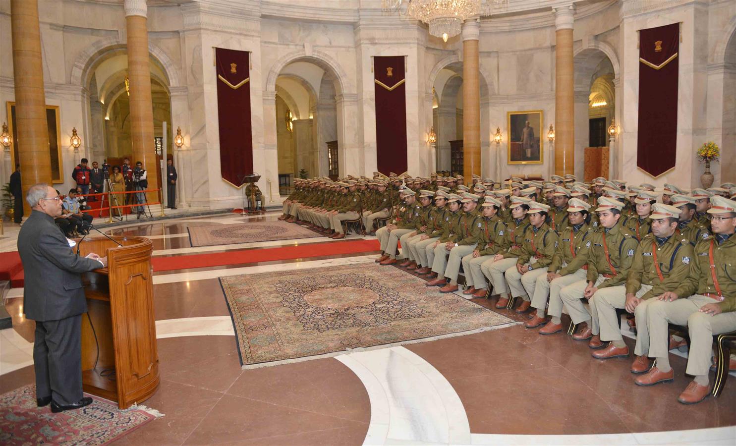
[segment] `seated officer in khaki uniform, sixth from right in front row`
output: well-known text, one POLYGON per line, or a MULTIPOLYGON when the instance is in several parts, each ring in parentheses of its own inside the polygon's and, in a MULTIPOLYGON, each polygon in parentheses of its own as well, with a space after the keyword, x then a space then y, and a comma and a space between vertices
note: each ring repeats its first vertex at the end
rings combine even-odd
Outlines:
POLYGON ((512 213, 512 221, 506 224, 506 245, 509 247, 505 252, 499 252, 495 257, 481 263, 481 271, 493 286, 493 290, 500 295, 496 308, 504 308, 509 303, 509 286, 506 284, 504 273, 506 269, 516 264, 521 255, 521 247, 524 241, 524 233, 529 225, 526 213, 531 202, 520 197, 513 197, 509 206, 512 213))

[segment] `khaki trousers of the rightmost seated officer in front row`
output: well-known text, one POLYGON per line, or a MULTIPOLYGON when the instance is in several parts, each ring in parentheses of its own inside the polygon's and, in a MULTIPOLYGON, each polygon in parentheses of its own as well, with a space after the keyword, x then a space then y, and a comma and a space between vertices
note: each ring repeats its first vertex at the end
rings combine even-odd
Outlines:
MULTIPOLYGON (((693 294, 673 302, 655 300, 647 308, 649 329, 649 357, 663 358, 668 354, 668 323, 687 325, 690 333, 690 353, 687 357, 687 375, 708 375, 713 335, 736 330, 736 311, 710 316, 698 311, 703 305, 715 303, 710 297, 693 294)), ((638 325, 637 325, 638 329, 638 325)))

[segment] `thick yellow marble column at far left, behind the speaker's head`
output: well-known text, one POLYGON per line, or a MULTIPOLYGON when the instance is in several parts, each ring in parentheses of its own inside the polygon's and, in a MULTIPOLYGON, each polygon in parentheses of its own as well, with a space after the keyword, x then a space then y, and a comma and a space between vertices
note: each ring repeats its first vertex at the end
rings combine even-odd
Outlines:
MULTIPOLYGON (((13 36, 13 81, 15 83, 15 125, 18 158, 21 163, 23 194, 36 183, 51 184, 49 127, 46 124, 46 93, 43 91, 41 38, 38 1, 10 1, 10 29, 13 36)), ((10 118, 10 117, 9 117, 10 118)), ((10 124, 10 122, 8 122, 10 124)), ((13 146, 10 147, 13 149, 13 146)), ((15 171, 15 166, 11 166, 15 171)), ((63 174, 66 177, 66 173, 63 174)), ((31 210, 23 200, 24 215, 31 210)))

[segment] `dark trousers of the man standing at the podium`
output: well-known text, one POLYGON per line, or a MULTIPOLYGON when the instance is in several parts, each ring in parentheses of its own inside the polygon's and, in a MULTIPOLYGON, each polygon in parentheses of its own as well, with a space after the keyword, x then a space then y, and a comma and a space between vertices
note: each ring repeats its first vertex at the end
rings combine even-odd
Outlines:
POLYGON ((36 321, 33 344, 36 397, 51 395, 57 404, 82 399, 82 315, 36 321))

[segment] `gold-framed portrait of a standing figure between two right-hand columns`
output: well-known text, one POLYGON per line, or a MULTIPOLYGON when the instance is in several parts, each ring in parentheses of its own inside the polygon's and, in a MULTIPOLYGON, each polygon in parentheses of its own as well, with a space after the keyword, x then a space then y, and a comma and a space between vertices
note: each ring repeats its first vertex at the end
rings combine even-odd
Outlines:
POLYGON ((507 113, 509 121, 509 164, 542 164, 542 110, 507 113))

